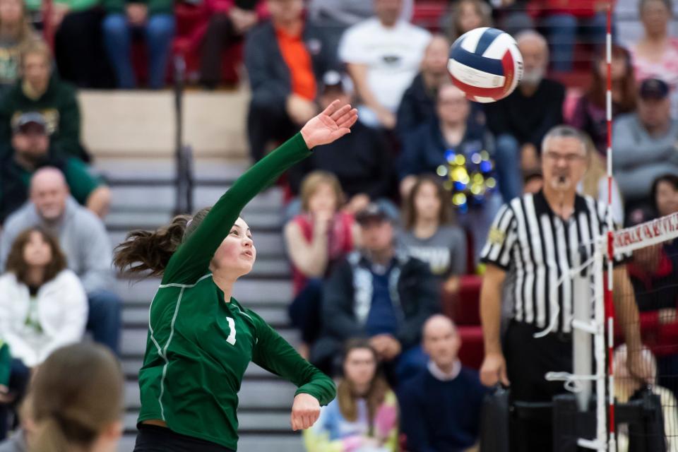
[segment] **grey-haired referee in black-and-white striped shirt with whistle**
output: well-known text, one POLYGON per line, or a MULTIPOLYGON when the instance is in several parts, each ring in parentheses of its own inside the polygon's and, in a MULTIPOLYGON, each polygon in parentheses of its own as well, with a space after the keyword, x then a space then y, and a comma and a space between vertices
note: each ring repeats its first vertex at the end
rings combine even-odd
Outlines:
MULTIPOLYGON (((480 379, 486 386, 510 384, 512 400, 549 402, 565 390, 562 381, 546 381, 545 374, 573 370, 573 283, 569 275, 557 283, 576 266, 577 254, 588 254, 581 261, 593 254, 592 240, 607 229, 606 206, 576 192, 586 170, 586 153, 579 131, 569 126, 551 129, 542 141, 543 189, 502 206, 482 250, 487 270, 480 295, 485 345, 480 379), (502 302, 511 307, 503 338, 502 302), (549 326, 550 333, 535 338, 549 326)), ((621 263, 614 268, 614 287, 618 293, 633 293, 621 263)), ((634 297, 615 296, 614 303, 629 350, 641 350, 634 297)), ((641 376, 640 356, 632 355, 629 370, 641 376)), ((512 452, 553 450, 550 417, 525 427, 511 427, 512 452)))

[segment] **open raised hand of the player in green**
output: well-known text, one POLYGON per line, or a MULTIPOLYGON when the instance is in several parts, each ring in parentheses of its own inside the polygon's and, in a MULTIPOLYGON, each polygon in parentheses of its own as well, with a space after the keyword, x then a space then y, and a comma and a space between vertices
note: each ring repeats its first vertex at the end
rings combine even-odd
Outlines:
POLYGON ((302 137, 309 149, 332 143, 350 133, 351 126, 357 119, 357 109, 352 109, 348 104, 340 107, 339 100, 335 100, 323 112, 304 124, 302 137))

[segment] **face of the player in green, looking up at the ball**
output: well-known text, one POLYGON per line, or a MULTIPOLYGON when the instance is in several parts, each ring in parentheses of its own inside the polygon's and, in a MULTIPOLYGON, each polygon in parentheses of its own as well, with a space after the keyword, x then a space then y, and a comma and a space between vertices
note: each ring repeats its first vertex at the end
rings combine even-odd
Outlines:
POLYGON ((252 234, 242 218, 238 218, 229 234, 219 245, 210 268, 235 273, 236 277, 251 272, 256 260, 252 234))

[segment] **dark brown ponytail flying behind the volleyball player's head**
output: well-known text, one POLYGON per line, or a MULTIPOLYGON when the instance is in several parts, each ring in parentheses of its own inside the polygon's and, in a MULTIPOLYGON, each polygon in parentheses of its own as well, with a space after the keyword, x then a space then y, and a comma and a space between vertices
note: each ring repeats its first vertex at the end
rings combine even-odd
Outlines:
POLYGON ((177 215, 169 225, 153 232, 136 230, 127 234, 125 241, 115 247, 113 265, 122 273, 148 273, 160 276, 169 258, 186 237, 192 234, 210 208, 198 210, 196 215, 177 215))

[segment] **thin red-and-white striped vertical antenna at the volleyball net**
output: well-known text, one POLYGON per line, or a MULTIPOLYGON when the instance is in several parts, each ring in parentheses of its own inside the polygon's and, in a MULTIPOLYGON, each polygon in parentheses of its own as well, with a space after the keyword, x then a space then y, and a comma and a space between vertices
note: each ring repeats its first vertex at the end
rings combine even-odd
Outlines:
MULTIPOLYGON (((612 262, 614 257, 614 234, 612 231, 612 0, 607 4, 607 30, 605 34, 605 59, 607 62, 607 91, 605 109, 607 114, 607 284, 605 285, 605 319, 607 323, 607 396, 608 396, 608 443, 607 450, 616 452, 614 439, 614 303, 612 302, 612 262)), ((602 399, 604 394, 598 394, 602 399)), ((602 422, 599 419, 598 422, 602 422)))

